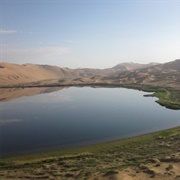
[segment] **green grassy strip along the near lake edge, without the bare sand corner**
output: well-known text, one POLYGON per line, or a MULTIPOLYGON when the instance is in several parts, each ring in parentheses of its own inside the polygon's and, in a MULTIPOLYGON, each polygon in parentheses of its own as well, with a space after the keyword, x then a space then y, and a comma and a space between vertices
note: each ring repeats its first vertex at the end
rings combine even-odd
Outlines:
POLYGON ((0 160, 0 179, 88 179, 94 173, 142 169, 153 158, 178 153, 180 127, 134 138, 0 160))

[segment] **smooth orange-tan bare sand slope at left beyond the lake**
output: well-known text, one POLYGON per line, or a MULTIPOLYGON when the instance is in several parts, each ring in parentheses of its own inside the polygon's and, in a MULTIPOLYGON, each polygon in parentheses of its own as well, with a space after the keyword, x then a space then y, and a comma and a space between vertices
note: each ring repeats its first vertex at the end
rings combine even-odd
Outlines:
POLYGON ((0 85, 14 85, 46 79, 74 78, 78 73, 68 68, 36 64, 0 63, 0 85))

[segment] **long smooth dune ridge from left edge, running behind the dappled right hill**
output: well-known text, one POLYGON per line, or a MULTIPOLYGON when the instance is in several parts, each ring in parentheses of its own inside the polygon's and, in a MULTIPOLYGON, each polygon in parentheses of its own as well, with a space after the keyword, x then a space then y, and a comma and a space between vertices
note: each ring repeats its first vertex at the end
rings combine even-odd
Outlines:
POLYGON ((90 78, 96 75, 110 76, 147 66, 149 65, 122 63, 108 69, 69 69, 51 65, 0 63, 0 85, 17 85, 57 79, 71 80, 76 78, 90 78))

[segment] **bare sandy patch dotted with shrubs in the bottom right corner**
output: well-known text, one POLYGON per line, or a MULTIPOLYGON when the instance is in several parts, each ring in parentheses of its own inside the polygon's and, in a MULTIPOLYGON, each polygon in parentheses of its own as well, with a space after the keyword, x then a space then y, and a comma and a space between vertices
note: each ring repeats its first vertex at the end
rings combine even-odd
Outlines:
POLYGON ((179 162, 159 162, 148 163, 144 166, 144 171, 138 168, 127 168, 122 171, 111 171, 106 174, 94 174, 91 180, 175 180, 180 179, 179 162))

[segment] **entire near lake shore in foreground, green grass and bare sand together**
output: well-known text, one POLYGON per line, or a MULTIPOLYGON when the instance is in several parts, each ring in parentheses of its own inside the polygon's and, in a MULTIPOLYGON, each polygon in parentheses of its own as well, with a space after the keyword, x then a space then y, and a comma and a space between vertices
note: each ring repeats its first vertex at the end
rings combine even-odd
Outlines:
POLYGON ((0 160, 0 179, 179 179, 180 127, 0 160))

